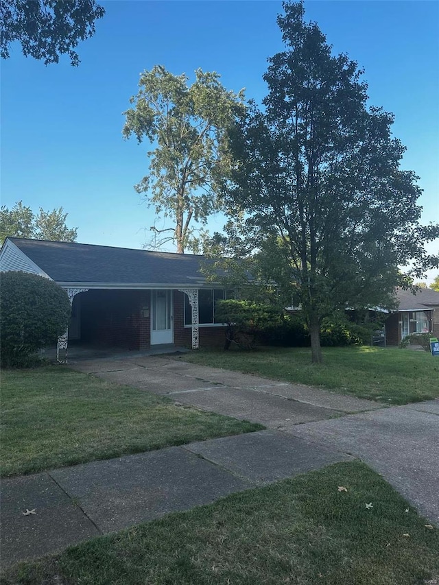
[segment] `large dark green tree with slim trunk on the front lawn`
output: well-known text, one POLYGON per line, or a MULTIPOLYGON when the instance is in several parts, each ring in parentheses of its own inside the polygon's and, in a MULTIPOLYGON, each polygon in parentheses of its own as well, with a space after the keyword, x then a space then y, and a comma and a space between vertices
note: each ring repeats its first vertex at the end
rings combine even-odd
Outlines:
POLYGON ((438 265, 423 241, 438 237, 439 226, 419 223, 418 178, 400 169, 405 148, 392 137, 393 116, 366 106, 363 72, 331 54, 318 25, 305 22, 302 3, 283 8, 285 51, 269 59, 264 110, 252 104, 232 135, 223 252, 264 259, 268 276, 258 274, 258 283, 294 297, 312 361, 321 362, 323 318, 390 305, 399 267, 410 264, 420 278, 438 265))

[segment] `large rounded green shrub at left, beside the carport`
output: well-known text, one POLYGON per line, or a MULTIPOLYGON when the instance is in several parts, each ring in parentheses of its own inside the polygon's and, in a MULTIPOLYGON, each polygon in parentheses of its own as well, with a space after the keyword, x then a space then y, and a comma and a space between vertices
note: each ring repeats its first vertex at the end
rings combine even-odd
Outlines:
POLYGON ((53 280, 3 272, 0 294, 1 366, 20 367, 28 356, 56 342, 69 325, 69 296, 53 280))

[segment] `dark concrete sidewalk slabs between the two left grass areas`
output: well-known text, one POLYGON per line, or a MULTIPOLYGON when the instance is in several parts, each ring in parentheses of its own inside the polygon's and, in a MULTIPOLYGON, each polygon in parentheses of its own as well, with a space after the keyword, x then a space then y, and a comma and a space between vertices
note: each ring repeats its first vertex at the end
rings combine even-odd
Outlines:
POLYGON ((285 433, 259 431, 4 479, 2 564, 348 459, 285 433))

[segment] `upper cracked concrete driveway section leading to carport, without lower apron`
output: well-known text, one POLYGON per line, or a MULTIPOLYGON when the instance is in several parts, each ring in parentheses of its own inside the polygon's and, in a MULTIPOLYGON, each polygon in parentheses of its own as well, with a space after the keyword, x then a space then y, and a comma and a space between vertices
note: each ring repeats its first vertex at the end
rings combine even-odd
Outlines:
POLYGON ((70 366, 108 381, 167 396, 176 403, 261 422, 274 430, 383 407, 304 385, 198 366, 185 362, 184 356, 93 359, 70 366))

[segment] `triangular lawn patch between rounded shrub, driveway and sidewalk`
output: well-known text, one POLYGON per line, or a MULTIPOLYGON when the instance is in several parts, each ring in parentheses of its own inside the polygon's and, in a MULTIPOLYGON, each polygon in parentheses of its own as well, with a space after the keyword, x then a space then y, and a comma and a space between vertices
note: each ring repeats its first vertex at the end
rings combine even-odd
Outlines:
POLYGON ((1 378, 3 477, 264 428, 63 366, 1 378))

